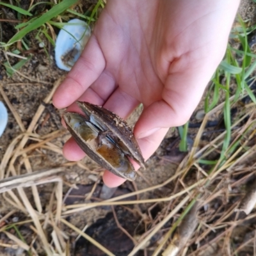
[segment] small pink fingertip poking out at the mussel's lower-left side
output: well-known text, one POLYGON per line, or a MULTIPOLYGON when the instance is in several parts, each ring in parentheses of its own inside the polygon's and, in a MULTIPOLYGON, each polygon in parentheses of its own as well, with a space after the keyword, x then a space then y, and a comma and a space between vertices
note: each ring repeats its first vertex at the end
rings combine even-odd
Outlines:
POLYGON ((83 150, 77 145, 74 138, 70 138, 65 145, 63 146, 63 156, 69 161, 79 161, 83 159, 85 153, 83 150))

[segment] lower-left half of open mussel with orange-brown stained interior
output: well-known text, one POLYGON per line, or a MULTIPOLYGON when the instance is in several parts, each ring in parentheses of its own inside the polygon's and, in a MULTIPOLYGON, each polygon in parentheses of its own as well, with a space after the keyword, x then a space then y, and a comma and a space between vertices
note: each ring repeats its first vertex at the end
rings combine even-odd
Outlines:
POLYGON ((95 162, 124 179, 136 179, 133 165, 122 149, 116 147, 115 141, 105 134, 104 124, 94 122, 92 116, 77 113, 66 113, 63 118, 79 147, 95 162))

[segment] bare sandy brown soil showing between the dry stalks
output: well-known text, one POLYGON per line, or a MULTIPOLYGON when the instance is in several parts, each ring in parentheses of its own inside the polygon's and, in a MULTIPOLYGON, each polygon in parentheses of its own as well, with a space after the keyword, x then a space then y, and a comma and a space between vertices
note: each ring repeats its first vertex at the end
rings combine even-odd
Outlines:
MULTIPOLYGON (((83 8, 88 8, 95 1, 86 1, 83 8)), ((26 1, 21 1, 20 4, 23 4, 26 8, 26 1)), ((241 1, 241 6, 239 8, 239 13, 241 14, 243 19, 250 19, 252 24, 256 23, 256 5, 252 1, 244 0, 241 1)), ((13 13, 8 13, 4 9, 5 17, 8 19, 15 19, 13 17, 13 13)), ((3 29, 3 42, 6 42, 9 38, 13 36, 13 24, 8 22, 3 22, 1 24, 1 28, 3 29)), ((56 33, 58 32, 58 29, 56 33)), ((8 76, 6 74, 6 67, 4 63, 6 61, 6 56, 4 56, 3 51, 0 51, 0 85, 3 87, 4 93, 10 100, 13 108, 20 116, 22 120, 22 124, 25 129, 28 129, 33 116, 35 116, 36 110, 42 104, 45 97, 49 95, 49 92, 52 90, 54 83, 57 79, 64 79, 67 75, 67 72, 60 70, 56 67, 54 63, 54 49, 49 44, 45 38, 41 38, 46 45, 47 54, 45 54, 45 50, 41 49, 38 45, 37 40, 33 40, 33 33, 29 34, 29 40, 31 40, 31 51, 24 52, 24 56, 31 56, 30 60, 19 69, 19 73, 15 73, 12 76, 8 76)), ((8 56, 8 60, 12 65, 19 61, 15 57, 8 56)), ((4 102, 3 96, 0 93, 0 100, 4 102)), ((195 139, 196 132, 198 131, 198 126, 200 125, 200 120, 196 118, 196 113, 204 109, 203 100, 199 104, 198 108, 195 111, 195 115, 191 118, 191 124, 189 129, 189 145, 192 145, 193 140, 195 139)), ((138 116, 140 115, 141 109, 138 108, 132 115, 130 116, 128 123, 129 125, 134 125, 138 116)), ((61 114, 63 110, 55 109, 51 102, 45 106, 44 113, 40 116, 38 124, 35 127, 35 132, 39 136, 44 136, 50 134, 54 131, 63 131, 61 136, 55 138, 51 141, 52 144, 57 145, 62 148, 65 141, 70 137, 70 134, 65 131, 61 127, 61 114)), ((3 159, 3 156, 6 152, 6 149, 12 143, 12 141, 22 133, 20 130, 20 126, 17 124, 14 116, 10 109, 8 109, 8 126, 4 131, 3 136, 0 138, 0 161, 3 159)), ((223 122, 221 122, 220 116, 216 114, 216 116, 212 116, 212 122, 216 122, 218 127, 223 128, 223 122)), ((214 127, 216 127, 216 124, 214 127)), ((211 131, 211 124, 209 124, 209 129, 207 131, 211 131)), ((202 138, 202 146, 204 143, 208 143, 209 137, 205 136, 202 138)), ((140 175, 136 182, 125 182, 124 185, 120 186, 115 191, 116 195, 124 195, 125 193, 129 193, 130 191, 134 191, 134 189, 144 189, 148 186, 153 186, 157 184, 161 184, 168 178, 172 177, 176 170, 177 165, 184 159, 186 154, 179 151, 179 132, 177 129, 170 129, 160 147, 157 149, 156 153, 148 159, 146 163, 145 170, 140 170, 140 175)), ((33 145, 35 141, 28 140, 28 143, 25 147, 29 147, 29 145, 33 145)), ((39 170, 45 170, 56 166, 66 166, 65 175, 63 179, 65 180, 65 184, 63 186, 63 196, 67 195, 65 204, 77 204, 79 202, 87 202, 86 196, 90 191, 92 191, 93 184, 95 184, 95 180, 97 180, 97 187, 93 193, 93 196, 90 202, 96 200, 95 198, 100 198, 100 193, 104 185, 100 180, 100 175, 102 173, 102 168, 99 165, 94 163, 89 157, 84 157, 81 161, 81 164, 70 164, 67 159, 65 159, 60 153, 54 152, 47 148, 36 148, 35 150, 31 150, 28 152, 29 161, 31 163, 31 167, 33 172, 39 170), (66 165, 65 165, 66 164, 66 165), (86 168, 84 168, 86 166, 86 168), (70 184, 76 184, 77 189, 73 189, 70 191, 70 184), (93 199, 94 198, 94 199, 93 199)), ((214 158, 214 156, 212 156, 214 158)), ((15 162, 15 169, 18 174, 26 173, 26 168, 24 165, 24 158, 19 157, 15 162)), ((191 182, 195 177, 191 177, 191 182)), ((156 198, 157 196, 163 196, 165 193, 172 191, 175 187, 175 184, 168 184, 155 193, 144 193, 140 196, 140 199, 146 198, 156 198)), ((42 202, 42 207, 46 208, 49 204, 49 200, 51 198, 52 189, 54 188, 53 183, 44 184, 38 186, 38 191, 40 195, 40 200, 42 202)), ((31 188, 26 188, 26 195, 33 202, 33 196, 31 194, 31 188)), ((9 204, 8 201, 0 195, 0 219, 1 216, 4 216, 6 213, 13 211, 15 207, 9 204)), ((110 197, 110 196, 109 196, 110 197)), ((134 198, 130 200, 135 200, 134 198)), ((132 236, 141 236, 143 234, 143 227, 141 227, 141 216, 140 213, 144 213, 148 211, 148 205, 141 205, 140 211, 136 210, 136 207, 115 207, 116 215, 118 216, 118 220, 120 221, 120 225, 124 227, 129 234, 132 236), (136 212, 136 213, 134 213, 136 212), (130 220, 129 225, 127 225, 127 218, 130 220)), ((111 250, 111 252, 115 253, 115 255, 127 255, 133 248, 133 243, 131 239, 128 239, 124 232, 120 231, 120 228, 116 226, 116 221, 113 216, 113 209, 111 207, 98 207, 97 209, 90 209, 84 211, 83 214, 76 213, 72 214, 68 217, 68 221, 73 225, 80 227, 85 227, 88 225, 87 234, 94 237, 102 243, 102 245, 106 246, 111 250), (103 230, 103 231, 102 231, 103 230), (109 236, 109 234, 111 236, 109 236), (122 250, 115 251, 115 243, 113 241, 118 241, 121 243, 122 241, 122 250)), ((153 207, 151 210, 152 219, 156 218, 158 212, 161 211, 159 205, 157 207, 153 207)), ((17 211, 12 215, 12 218, 9 220, 11 223, 15 223, 17 221, 25 220, 26 216, 17 211)), ((9 223, 10 223, 9 222, 9 223)), ((0 223, 1 224, 1 223, 0 223)), ((255 221, 253 222, 255 225, 255 221)), ((254 236, 252 230, 250 230, 249 226, 252 226, 252 223, 248 223, 248 227, 237 228, 236 234, 233 234, 234 239, 236 241, 249 239, 249 236, 254 236), (250 232, 248 232, 250 230, 250 232), (251 234, 252 233, 252 234, 251 234), (246 237, 248 236, 248 237, 246 237)), ((19 230, 27 243, 31 242, 29 236, 31 236, 31 229, 28 226, 23 225, 19 230)), ((145 230, 144 230, 145 231, 145 230)), ((10 232, 14 232, 13 229, 10 232)), ((157 234, 157 236, 153 237, 150 241, 151 244, 154 244, 157 239, 159 239, 161 234, 157 234)), ((76 236, 71 233, 70 237, 76 238, 76 236)), ((72 239, 71 239, 72 240, 72 239)), ((3 233, 0 234, 0 242, 1 243, 11 243, 8 237, 6 237, 3 233)), ((79 239, 76 243, 74 241, 71 242, 72 246, 70 252, 72 255, 104 255, 102 252, 99 252, 92 244, 86 242, 84 239, 79 239), (86 245, 84 245, 86 244, 86 245)), ((38 245, 39 246, 39 245, 38 245)), ((213 246, 212 246, 213 247, 213 246)), ((215 251, 216 252, 216 251, 215 251)), ((248 252, 251 252, 248 250, 248 252)), ((16 249, 6 248, 0 246, 0 255, 26 255, 21 251, 19 254, 16 249), (23 254, 22 254, 23 253, 23 254)), ((38 247, 38 255, 44 255, 42 252, 42 248, 38 247)), ((144 255, 141 252, 138 255, 144 255)), ((150 255, 150 252, 148 252, 150 255)), ((206 255, 206 254, 205 254, 206 255)), ((211 254, 208 254, 211 255, 211 254)), ((242 255, 242 254, 241 254, 242 255)), ((246 255, 244 252, 243 255, 246 255)), ((248 254, 249 255, 249 254, 248 254)), ((251 254, 250 254, 251 255, 251 254)))

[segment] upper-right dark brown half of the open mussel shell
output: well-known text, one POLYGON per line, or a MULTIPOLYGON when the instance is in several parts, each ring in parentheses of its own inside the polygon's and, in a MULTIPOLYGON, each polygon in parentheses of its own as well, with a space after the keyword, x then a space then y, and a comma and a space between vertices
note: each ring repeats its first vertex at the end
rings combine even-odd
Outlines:
POLYGON ((131 128, 120 116, 108 109, 93 105, 89 102, 77 101, 76 103, 86 116, 92 116, 91 118, 94 119, 94 122, 102 124, 103 120, 104 126, 108 127, 109 131, 113 132, 115 140, 118 138, 120 141, 120 146, 125 154, 129 155, 131 159, 145 168, 145 161, 131 128))

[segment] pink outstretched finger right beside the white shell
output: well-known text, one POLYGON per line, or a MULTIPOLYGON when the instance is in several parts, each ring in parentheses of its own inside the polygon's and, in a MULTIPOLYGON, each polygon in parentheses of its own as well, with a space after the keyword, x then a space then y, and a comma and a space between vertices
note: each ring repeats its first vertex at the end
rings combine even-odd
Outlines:
POLYGON ((91 36, 79 60, 53 95, 56 108, 67 108, 100 76, 106 66, 104 55, 94 35, 91 36))

